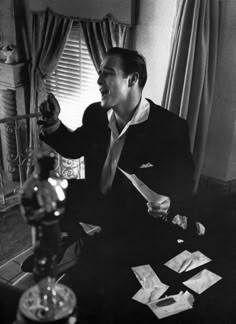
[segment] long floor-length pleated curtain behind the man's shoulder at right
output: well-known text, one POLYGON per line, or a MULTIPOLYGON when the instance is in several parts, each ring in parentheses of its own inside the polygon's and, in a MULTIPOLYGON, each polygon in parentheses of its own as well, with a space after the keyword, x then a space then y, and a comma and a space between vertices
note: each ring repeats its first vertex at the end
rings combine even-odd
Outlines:
POLYGON ((195 162, 195 191, 203 168, 219 36, 219 0, 181 0, 162 105, 187 120, 195 162))

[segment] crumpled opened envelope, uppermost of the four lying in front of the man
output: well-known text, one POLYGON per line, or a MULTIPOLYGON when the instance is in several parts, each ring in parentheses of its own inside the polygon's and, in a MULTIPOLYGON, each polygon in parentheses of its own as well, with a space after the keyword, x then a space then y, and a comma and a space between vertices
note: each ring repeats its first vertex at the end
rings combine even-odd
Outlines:
POLYGON ((210 261, 211 259, 200 251, 191 253, 185 250, 166 262, 165 266, 178 273, 181 273, 200 267, 201 265, 206 264, 210 261))

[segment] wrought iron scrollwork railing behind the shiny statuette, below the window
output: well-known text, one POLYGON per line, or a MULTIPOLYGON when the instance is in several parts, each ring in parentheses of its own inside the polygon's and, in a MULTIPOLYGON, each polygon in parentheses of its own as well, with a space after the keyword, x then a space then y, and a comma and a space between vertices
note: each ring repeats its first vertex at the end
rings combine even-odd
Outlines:
MULTIPOLYGON (((4 157, 7 162, 7 167, 0 169, 0 199, 4 205, 6 203, 6 192, 4 187, 4 173, 13 177, 15 187, 14 194, 19 193, 24 181, 30 176, 34 169, 35 162, 35 147, 29 146, 27 135, 29 129, 27 127, 28 120, 38 118, 39 113, 11 116, 0 119, 0 125, 4 126, 4 136, 7 147, 11 146, 12 149, 7 149, 7 154, 4 157), (6 136, 10 135, 10 136, 6 136)), ((81 179, 85 177, 84 160, 80 159, 66 159, 59 154, 56 154, 55 174, 66 179, 81 179)), ((1 168, 1 166, 0 166, 1 168)))

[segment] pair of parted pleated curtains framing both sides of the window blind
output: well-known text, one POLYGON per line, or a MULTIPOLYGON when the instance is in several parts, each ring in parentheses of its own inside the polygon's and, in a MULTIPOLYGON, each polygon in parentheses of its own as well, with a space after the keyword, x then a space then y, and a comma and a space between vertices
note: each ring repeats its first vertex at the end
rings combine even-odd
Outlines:
MULTIPOLYGON (((46 98, 44 80, 55 69, 62 54, 72 23, 81 23, 86 45, 95 68, 99 69, 105 52, 114 46, 128 47, 130 26, 119 23, 112 15, 102 20, 84 20, 57 15, 50 9, 32 14, 31 49, 31 101, 30 112, 35 113, 46 98)), ((31 121, 29 145, 37 151, 38 130, 35 121, 31 121)))

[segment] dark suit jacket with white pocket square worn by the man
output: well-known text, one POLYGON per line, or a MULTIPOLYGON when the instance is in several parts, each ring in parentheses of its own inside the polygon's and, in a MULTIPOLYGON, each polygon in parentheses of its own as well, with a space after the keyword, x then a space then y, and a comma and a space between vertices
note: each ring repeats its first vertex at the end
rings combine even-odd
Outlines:
MULTIPOLYGON (((157 193, 169 196, 174 216, 178 212, 185 212, 193 187, 194 168, 188 127, 183 119, 151 100, 149 102, 148 120, 128 129, 118 166, 128 173, 136 174, 157 193), (147 163, 152 166, 141 168, 147 163)), ((86 109, 83 125, 74 132, 61 124, 57 131, 51 135, 41 135, 41 139, 64 157, 73 159, 84 156, 86 186, 89 188, 90 205, 93 204, 91 193, 99 194, 101 170, 110 141, 107 112, 100 103, 94 103, 86 109)), ((131 223, 134 219, 138 223, 137 213, 146 213, 146 203, 118 169, 111 192, 119 199, 116 206, 126 206, 131 223), (134 215, 133 219, 131 214, 134 215)), ((79 203, 79 195, 77 198, 79 203)), ((151 218, 150 215, 146 217, 151 218)), ((140 220, 140 226, 142 222, 140 220)))

